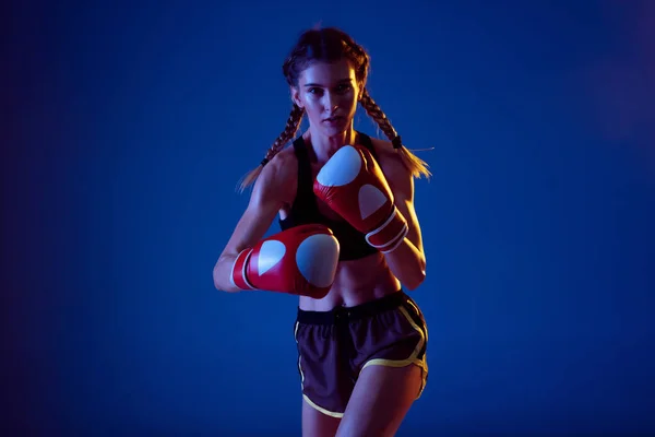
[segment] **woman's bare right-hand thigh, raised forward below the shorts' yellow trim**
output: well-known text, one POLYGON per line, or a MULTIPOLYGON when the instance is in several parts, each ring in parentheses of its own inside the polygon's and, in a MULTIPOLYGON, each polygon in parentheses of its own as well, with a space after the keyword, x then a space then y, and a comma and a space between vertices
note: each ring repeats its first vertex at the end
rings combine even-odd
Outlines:
POLYGON ((422 368, 417 365, 367 366, 338 426, 337 436, 395 435, 422 385, 422 368))

